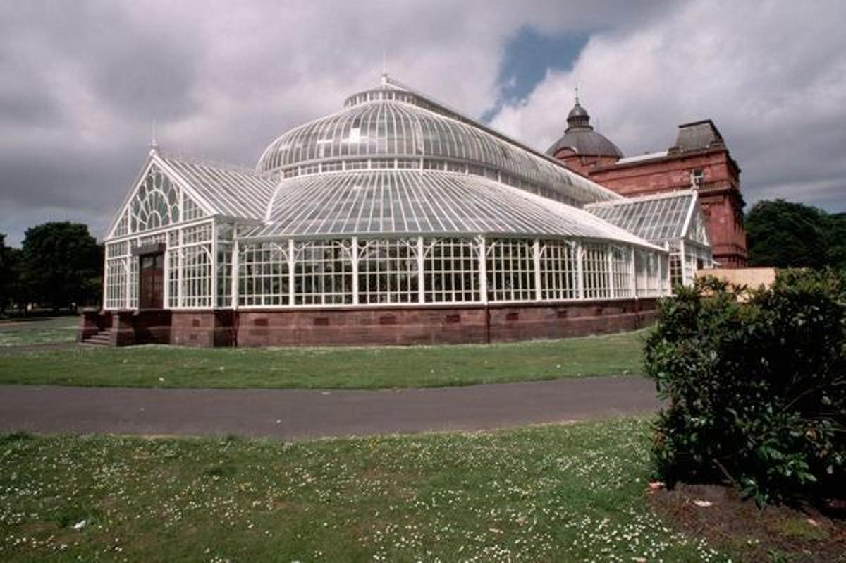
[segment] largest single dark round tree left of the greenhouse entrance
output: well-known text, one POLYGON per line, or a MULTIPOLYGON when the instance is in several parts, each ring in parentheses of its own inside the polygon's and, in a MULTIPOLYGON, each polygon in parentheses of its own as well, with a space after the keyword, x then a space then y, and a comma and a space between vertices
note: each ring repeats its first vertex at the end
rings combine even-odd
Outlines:
POLYGON ((30 300, 54 309, 93 304, 101 288, 102 247, 78 223, 26 230, 21 278, 30 300))

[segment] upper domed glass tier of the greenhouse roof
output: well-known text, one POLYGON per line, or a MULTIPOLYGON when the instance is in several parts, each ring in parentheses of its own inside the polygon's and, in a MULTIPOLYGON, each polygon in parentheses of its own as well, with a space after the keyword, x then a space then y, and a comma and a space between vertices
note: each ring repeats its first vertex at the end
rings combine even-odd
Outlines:
POLYGON ((549 196, 577 206, 621 199, 546 155, 391 80, 354 94, 345 106, 277 138, 261 155, 257 170, 288 177, 304 174, 304 168, 316 172, 315 164, 372 157, 417 158, 424 168, 425 159, 437 158, 472 164, 481 168, 480 175, 520 180, 504 182, 511 185, 543 186, 549 196))

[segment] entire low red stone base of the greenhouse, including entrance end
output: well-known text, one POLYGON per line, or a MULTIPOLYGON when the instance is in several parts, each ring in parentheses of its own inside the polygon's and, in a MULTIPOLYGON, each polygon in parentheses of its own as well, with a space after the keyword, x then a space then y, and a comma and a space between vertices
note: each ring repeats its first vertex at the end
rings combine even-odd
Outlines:
MULTIPOLYGON (((219 311, 118 311, 80 321, 80 335, 110 319, 111 344, 200 347, 421 345, 557 339, 634 330, 655 321, 655 299, 519 305, 219 311)), ((87 313, 86 313, 87 315, 87 313)), ((81 336, 80 336, 81 338, 81 336)))

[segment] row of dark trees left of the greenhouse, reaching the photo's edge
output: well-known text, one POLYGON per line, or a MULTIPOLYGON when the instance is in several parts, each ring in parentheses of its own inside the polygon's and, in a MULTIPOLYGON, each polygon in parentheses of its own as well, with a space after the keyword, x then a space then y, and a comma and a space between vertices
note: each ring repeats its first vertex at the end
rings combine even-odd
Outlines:
POLYGON ((103 246, 79 223, 27 229, 20 248, 0 233, 0 315, 76 311, 102 300, 103 246))

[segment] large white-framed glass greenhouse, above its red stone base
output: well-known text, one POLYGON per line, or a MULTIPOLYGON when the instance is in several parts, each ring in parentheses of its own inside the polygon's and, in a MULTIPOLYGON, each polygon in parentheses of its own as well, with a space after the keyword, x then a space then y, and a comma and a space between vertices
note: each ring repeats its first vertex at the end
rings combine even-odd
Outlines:
POLYGON ((695 193, 629 200, 383 77, 255 169, 154 147, 104 309, 613 301, 710 262, 695 193))

